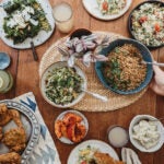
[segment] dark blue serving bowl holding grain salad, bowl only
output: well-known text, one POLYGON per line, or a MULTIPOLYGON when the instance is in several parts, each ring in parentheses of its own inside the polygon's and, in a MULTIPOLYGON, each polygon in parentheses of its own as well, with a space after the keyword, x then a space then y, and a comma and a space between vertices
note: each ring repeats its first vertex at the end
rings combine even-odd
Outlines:
MULTIPOLYGON (((115 49, 116 47, 120 47, 125 44, 132 44, 133 46, 136 46, 141 55, 142 55, 142 58, 144 61, 149 61, 149 62, 152 62, 152 56, 151 56, 151 52, 149 51, 149 49, 141 43, 139 43, 138 40, 134 40, 134 39, 117 39, 117 40, 114 40, 109 44, 108 47, 106 48, 103 48, 99 54, 101 55, 104 55, 104 56, 108 56, 108 54, 115 49)), ((96 73, 97 73, 97 77, 98 79, 101 80, 101 82, 104 84, 105 87, 109 89, 110 91, 115 92, 115 93, 118 93, 118 94, 125 94, 125 95, 128 95, 128 94, 134 94, 134 93, 138 93, 140 91, 142 91, 145 86, 148 86, 148 84, 150 83, 152 77, 153 77, 153 69, 152 69, 152 66, 151 65, 147 65, 147 75, 145 75, 145 79, 144 81, 136 89, 133 90, 130 90, 130 91, 120 91, 120 90, 117 90, 117 89, 113 89, 105 80, 104 75, 103 75, 103 63, 104 61, 97 61, 95 63, 95 70, 96 70, 96 73)))

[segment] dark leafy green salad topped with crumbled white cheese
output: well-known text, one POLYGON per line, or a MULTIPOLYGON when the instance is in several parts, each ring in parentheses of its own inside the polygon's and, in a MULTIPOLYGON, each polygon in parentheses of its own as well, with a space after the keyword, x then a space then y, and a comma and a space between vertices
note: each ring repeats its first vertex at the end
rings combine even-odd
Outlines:
POLYGON ((51 30, 42 5, 36 0, 12 0, 3 4, 3 9, 7 12, 3 21, 5 37, 13 39, 14 44, 36 36, 42 30, 51 30))

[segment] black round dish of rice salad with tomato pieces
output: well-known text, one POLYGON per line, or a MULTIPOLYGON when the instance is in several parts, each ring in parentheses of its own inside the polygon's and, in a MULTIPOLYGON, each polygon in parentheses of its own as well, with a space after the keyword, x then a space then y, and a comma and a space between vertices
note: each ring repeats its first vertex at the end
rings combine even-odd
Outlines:
MULTIPOLYGON (((159 22, 163 22, 162 21, 163 13, 160 13, 160 9, 162 11, 163 8, 164 8, 164 2, 160 1, 160 0, 144 1, 140 4, 138 4, 131 11, 129 19, 128 19, 128 28, 129 28, 129 33, 130 33, 131 37, 134 39, 138 39, 139 42, 141 42, 149 48, 159 48, 159 47, 164 46, 164 43, 156 44, 156 40, 160 39, 164 35, 164 31, 162 27, 155 26, 155 24, 157 25, 159 22), (148 10, 147 8, 149 7, 148 4, 150 4, 151 11, 153 11, 153 13, 149 13, 147 15, 147 10, 148 10), (153 9, 153 8, 155 8, 155 5, 156 5, 157 10, 153 9), (143 9, 143 8, 145 8, 145 9, 143 9), (144 13, 144 10, 145 10, 145 13, 144 13), (154 14, 155 12, 157 15, 154 14), (134 15, 136 15, 136 17, 134 17, 134 15), (159 15, 161 15, 161 17, 159 17, 159 15), (138 22, 138 16, 140 17, 139 22, 138 22), (159 20, 156 20, 156 17, 159 17, 159 20), (132 23, 132 20, 133 20, 133 23, 132 23), (147 24, 147 22, 149 24, 147 24), (154 32, 152 32, 153 26, 154 26, 154 32), (141 33, 141 32, 147 32, 147 33, 141 33), (160 34, 157 34, 157 33, 160 33, 160 34), (149 36, 150 36, 150 38, 149 38, 149 36), (156 37, 156 39, 154 39, 154 37, 156 37), (149 38, 149 40, 148 40, 148 38, 149 38), (153 44, 153 42, 155 44, 153 44)), ((161 40, 162 40, 162 38, 161 38, 161 40)))

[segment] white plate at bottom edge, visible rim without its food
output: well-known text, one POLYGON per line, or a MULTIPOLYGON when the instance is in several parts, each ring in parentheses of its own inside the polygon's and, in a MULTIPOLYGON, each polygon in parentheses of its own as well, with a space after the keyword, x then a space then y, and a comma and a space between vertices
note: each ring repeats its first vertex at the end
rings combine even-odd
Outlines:
POLYGON ((87 145, 97 148, 102 153, 107 153, 115 160, 119 160, 115 150, 112 147, 109 147, 107 143, 99 141, 99 140, 87 140, 87 141, 80 143, 71 151, 68 157, 67 164, 77 164, 79 160, 79 151, 82 149, 85 149, 87 145))

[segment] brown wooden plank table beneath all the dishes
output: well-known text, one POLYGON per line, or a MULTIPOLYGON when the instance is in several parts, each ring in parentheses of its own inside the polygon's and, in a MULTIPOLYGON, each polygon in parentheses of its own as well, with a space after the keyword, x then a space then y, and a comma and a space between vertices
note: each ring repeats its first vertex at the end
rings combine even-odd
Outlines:
MULTIPOLYGON (((50 0, 51 5, 60 0, 50 0)), ((129 11, 118 20, 110 22, 103 22, 92 17, 83 8, 81 0, 67 0, 74 9, 74 30, 79 27, 89 28, 91 31, 107 31, 121 34, 129 37, 127 28, 127 20, 130 11, 143 0, 133 0, 129 11), (78 10, 77 10, 78 9, 78 10)), ((68 145, 61 143, 54 133, 54 121, 56 117, 63 112, 47 104, 40 95, 38 83, 38 66, 39 61, 47 50, 47 48, 54 44, 60 37, 63 37, 57 30, 54 32, 52 36, 42 46, 36 48, 39 60, 36 62, 33 60, 32 51, 30 50, 16 50, 8 47, 2 40, 0 40, 0 51, 8 52, 11 56, 12 62, 9 68, 14 77, 14 86, 7 93, 1 94, 0 99, 14 98, 21 94, 32 91, 38 103, 39 110, 43 118, 54 138, 55 144, 59 151, 60 160, 62 164, 67 163, 70 151, 75 145, 68 145)), ((159 48, 152 50, 152 55, 155 60, 164 62, 164 48, 159 48)), ((107 142, 106 130, 112 125, 120 125, 128 129, 130 120, 133 116, 139 114, 149 114, 155 117, 164 116, 164 97, 157 96, 151 90, 136 103, 128 107, 124 107, 115 112, 106 113, 83 113, 90 124, 90 130, 84 140, 89 139, 99 139, 107 142)), ((136 150, 131 143, 127 147, 136 150)), ((120 149, 115 149, 120 156, 120 149)), ((136 150, 139 154, 140 160, 143 164, 163 164, 164 163, 164 147, 155 153, 141 153, 136 150)))

